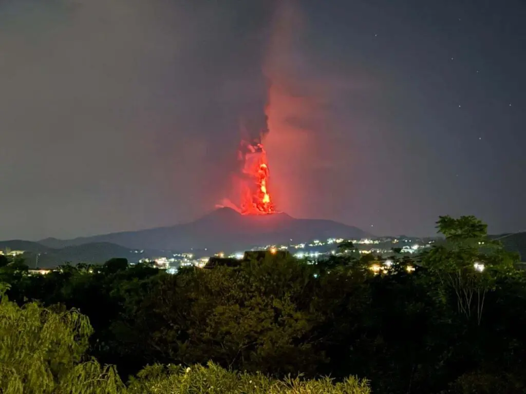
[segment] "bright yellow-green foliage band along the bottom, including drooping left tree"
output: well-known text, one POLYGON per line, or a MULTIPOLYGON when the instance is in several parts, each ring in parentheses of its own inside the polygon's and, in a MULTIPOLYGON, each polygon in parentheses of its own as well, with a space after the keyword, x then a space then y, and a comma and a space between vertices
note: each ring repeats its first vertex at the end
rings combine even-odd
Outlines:
MULTIPOLYGON (((3 285, 2 291, 8 286, 3 285)), ((4 294, 4 293, 2 293, 4 294)), ((227 371, 213 363, 147 366, 125 387, 115 367, 82 362, 92 327, 76 310, 57 313, 36 303, 18 307, 0 300, 0 392, 16 393, 308 393, 369 394, 367 381, 349 377, 284 381, 227 371)))

